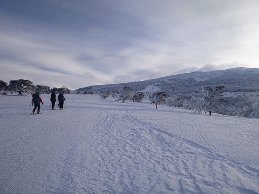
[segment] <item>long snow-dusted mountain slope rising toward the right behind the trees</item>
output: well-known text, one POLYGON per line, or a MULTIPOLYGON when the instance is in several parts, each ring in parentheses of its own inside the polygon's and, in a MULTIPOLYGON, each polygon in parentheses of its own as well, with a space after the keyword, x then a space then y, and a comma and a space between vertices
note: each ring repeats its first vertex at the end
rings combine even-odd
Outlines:
POLYGON ((168 94, 190 95, 201 93, 201 87, 206 85, 223 84, 228 92, 259 91, 259 69, 232 68, 209 72, 191 72, 166 77, 107 85, 94 85, 77 89, 77 91, 100 90, 118 91, 122 86, 130 86, 134 91, 145 89, 149 85, 159 86, 160 90, 168 94))

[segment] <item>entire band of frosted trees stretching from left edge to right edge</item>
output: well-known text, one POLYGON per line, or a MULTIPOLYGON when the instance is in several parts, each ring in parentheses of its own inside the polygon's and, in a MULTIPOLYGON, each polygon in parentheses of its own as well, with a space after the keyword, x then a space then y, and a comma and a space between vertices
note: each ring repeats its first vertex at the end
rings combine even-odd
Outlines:
MULTIPOLYGON (((223 115, 242 116, 250 118, 259 118, 259 96, 258 95, 238 95, 237 97, 223 97, 224 85, 214 86, 202 86, 201 95, 194 94, 190 99, 184 99, 182 96, 175 94, 167 94, 165 91, 156 92, 133 92, 133 89, 129 86, 122 86, 118 91, 111 92, 110 90, 99 91, 100 98, 106 99, 110 94, 113 98, 117 98, 116 101, 125 102, 126 100, 132 100, 133 102, 142 102, 143 98, 148 97, 151 104, 157 105, 167 104, 168 106, 183 107, 185 109, 193 110, 194 113, 201 114, 202 112, 219 113, 223 115)), ((19 95, 24 93, 66 93, 69 94, 72 91, 67 87, 50 88, 45 85, 33 85, 30 80, 11 80, 8 83, 0 80, 0 91, 2 94, 7 92, 17 92, 19 95)), ((88 92, 85 90, 84 94, 88 92)))

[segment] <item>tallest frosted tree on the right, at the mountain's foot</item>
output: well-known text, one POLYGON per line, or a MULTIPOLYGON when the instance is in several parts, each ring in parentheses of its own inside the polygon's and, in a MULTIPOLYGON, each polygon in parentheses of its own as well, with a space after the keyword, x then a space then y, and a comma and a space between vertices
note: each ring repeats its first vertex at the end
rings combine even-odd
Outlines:
MULTIPOLYGON (((222 103, 221 96, 223 95, 224 85, 215 85, 215 86, 203 86, 202 87, 202 101, 204 105, 204 111, 215 111, 215 109, 219 109, 222 103)), ((217 112, 217 111, 215 111, 217 112)))

